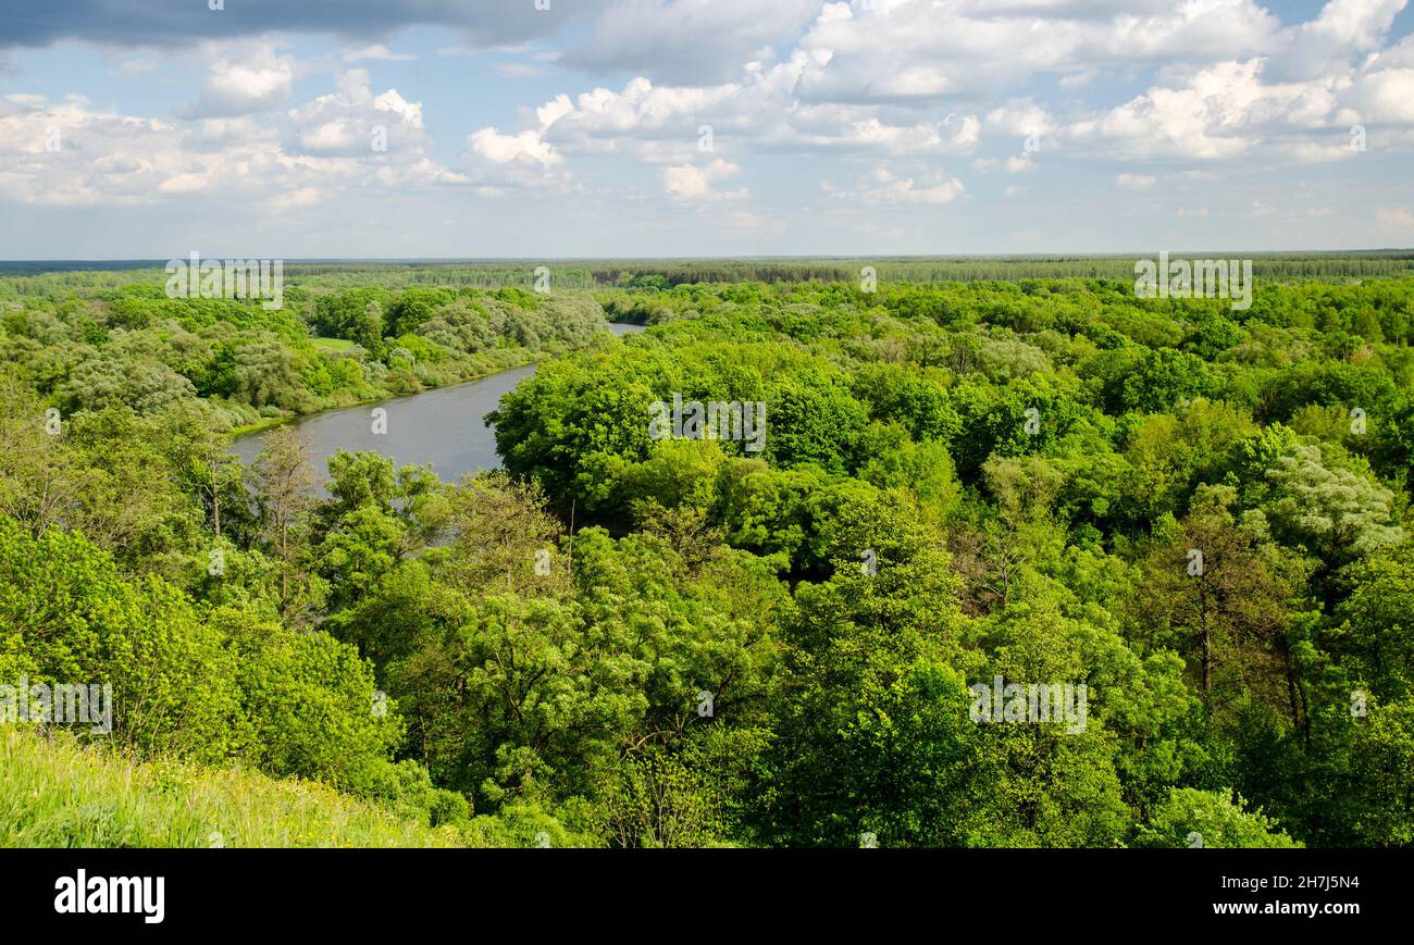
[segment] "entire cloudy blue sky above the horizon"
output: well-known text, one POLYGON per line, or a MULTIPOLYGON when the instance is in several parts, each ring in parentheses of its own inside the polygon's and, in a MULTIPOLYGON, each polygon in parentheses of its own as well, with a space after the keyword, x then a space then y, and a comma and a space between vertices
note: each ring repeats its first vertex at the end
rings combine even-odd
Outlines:
POLYGON ((1407 248, 1407 1, 0 0, 0 259, 1407 248))

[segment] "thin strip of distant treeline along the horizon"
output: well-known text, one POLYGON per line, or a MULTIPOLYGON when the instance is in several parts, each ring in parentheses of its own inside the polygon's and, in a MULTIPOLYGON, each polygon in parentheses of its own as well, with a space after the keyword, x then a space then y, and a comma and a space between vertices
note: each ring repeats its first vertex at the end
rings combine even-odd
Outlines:
MULTIPOLYGON (((759 259, 608 259, 489 262, 358 262, 286 260, 288 284, 346 289, 378 282, 389 289, 448 286, 530 287, 536 269, 550 270, 553 289, 670 289, 694 283, 857 282, 872 266, 880 282, 1015 282, 1021 279, 1134 277, 1134 262, 1157 253, 1124 256, 894 256, 894 257, 759 257, 759 259)), ((1414 273, 1414 250, 1389 249, 1324 253, 1174 252, 1186 259, 1253 259, 1257 279, 1301 282, 1349 280, 1414 273)), ((163 262, 0 262, 0 297, 49 294, 132 283, 164 283, 163 262), (6 277, 8 276, 8 277, 6 277)))

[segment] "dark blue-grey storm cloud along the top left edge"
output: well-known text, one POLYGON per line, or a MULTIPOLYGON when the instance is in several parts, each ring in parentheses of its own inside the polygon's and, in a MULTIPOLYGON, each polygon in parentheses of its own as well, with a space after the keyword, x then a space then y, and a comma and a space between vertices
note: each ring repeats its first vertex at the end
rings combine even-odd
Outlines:
POLYGON ((557 33, 608 0, 0 0, 0 47, 61 40, 112 45, 175 45, 257 33, 378 37, 400 27, 444 25, 468 44, 518 42, 557 33))

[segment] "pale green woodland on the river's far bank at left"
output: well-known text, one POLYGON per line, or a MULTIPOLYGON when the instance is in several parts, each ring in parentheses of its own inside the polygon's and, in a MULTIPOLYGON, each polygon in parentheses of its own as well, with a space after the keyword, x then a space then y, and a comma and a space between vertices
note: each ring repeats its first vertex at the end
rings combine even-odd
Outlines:
POLYGON ((14 297, 0 359, 65 414, 110 405, 148 414, 201 399, 240 427, 467 381, 607 330, 583 293, 301 284, 267 310, 168 298, 157 276, 47 294, 17 293, 23 282, 0 282, 14 297))

